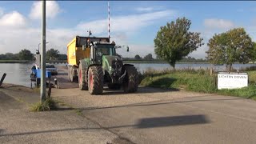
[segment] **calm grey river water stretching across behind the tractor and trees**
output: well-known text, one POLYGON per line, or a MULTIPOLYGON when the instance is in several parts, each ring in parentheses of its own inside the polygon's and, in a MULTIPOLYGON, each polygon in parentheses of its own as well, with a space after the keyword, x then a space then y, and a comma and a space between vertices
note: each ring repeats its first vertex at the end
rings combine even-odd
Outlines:
MULTIPOLYGON (((0 78, 6 73, 4 83, 14 83, 22 86, 30 87, 30 73, 32 63, 0 63, 0 78)), ((64 64, 58 64, 64 66, 64 64)), ((134 63, 138 71, 143 72, 147 69, 165 70, 171 69, 167 63, 134 63)), ((210 64, 177 64, 176 69, 194 68, 206 69, 210 68, 210 64)), ((256 66, 256 64, 234 64, 234 69, 256 66)), ((214 66, 214 70, 223 71, 225 66, 214 66)))

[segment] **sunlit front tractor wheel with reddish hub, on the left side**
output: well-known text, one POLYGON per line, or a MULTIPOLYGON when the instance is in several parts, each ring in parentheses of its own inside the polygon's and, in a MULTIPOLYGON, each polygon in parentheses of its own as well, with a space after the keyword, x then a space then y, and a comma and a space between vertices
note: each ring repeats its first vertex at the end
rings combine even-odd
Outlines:
POLYGON ((90 66, 88 70, 88 89, 90 94, 102 94, 103 92, 102 66, 90 66))

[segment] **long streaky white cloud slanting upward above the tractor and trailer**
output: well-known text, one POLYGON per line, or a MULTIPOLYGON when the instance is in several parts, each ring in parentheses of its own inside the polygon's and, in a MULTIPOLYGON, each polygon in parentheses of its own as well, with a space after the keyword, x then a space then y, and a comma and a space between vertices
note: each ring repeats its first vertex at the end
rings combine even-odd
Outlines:
MULTIPOLYGON (((110 18, 110 33, 136 31, 143 26, 153 24, 155 20, 168 18, 175 14, 174 10, 162 10, 146 14, 133 14, 110 18)), ((93 34, 106 33, 108 28, 107 19, 93 22, 81 22, 78 29, 91 30, 93 34)))

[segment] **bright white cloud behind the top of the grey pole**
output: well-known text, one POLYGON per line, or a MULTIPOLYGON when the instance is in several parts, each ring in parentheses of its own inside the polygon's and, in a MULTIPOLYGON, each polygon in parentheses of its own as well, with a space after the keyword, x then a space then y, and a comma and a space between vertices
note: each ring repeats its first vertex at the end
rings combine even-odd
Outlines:
MULTIPOLYGON (((55 18, 62 10, 56 1, 46 1, 46 18, 55 18)), ((42 18, 42 1, 34 2, 30 10, 31 19, 42 18)))

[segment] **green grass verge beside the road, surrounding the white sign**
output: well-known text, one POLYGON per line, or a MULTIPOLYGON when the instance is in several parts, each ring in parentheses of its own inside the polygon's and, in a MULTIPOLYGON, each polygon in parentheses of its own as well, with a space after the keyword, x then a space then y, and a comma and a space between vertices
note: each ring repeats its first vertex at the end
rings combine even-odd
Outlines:
POLYGON ((142 86, 256 99, 256 71, 248 71, 248 74, 249 86, 235 90, 218 90, 217 75, 210 76, 210 70, 147 70, 140 79, 142 86))

